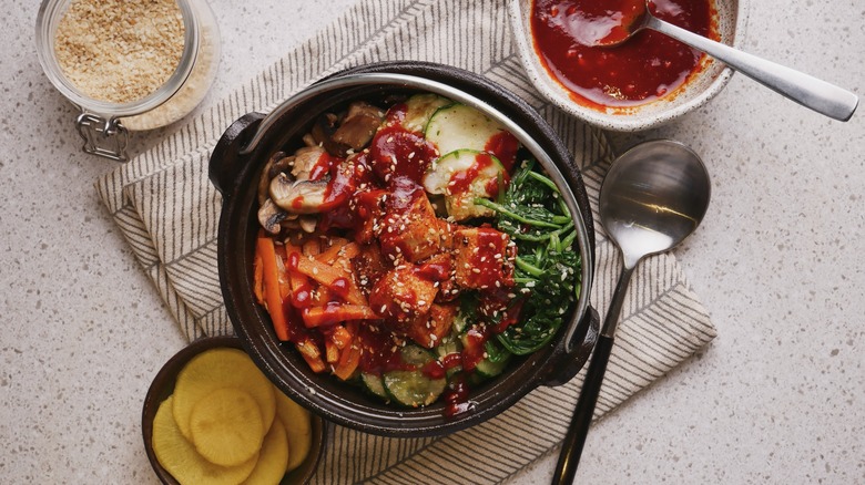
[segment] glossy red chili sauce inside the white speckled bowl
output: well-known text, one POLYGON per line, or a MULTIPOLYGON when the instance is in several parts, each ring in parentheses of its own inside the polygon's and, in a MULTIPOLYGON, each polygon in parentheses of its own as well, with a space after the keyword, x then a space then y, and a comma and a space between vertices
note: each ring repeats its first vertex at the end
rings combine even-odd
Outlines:
MULTIPOLYGON (((576 102, 601 111, 644 104, 702 69, 700 51, 651 30, 614 47, 586 45, 632 17, 632 8, 633 0, 535 0, 535 50, 576 102)), ((662 20, 718 40, 713 0, 653 0, 649 8, 662 20)))

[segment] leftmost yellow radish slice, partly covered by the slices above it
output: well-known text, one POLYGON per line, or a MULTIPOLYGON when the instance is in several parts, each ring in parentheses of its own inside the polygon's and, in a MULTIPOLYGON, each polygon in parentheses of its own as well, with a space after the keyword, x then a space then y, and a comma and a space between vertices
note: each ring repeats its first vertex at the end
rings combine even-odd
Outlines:
POLYGON ((151 444, 163 468, 181 484, 236 484, 255 468, 255 455, 238 466, 215 465, 201 456, 177 429, 172 414, 173 398, 163 401, 153 419, 151 444))

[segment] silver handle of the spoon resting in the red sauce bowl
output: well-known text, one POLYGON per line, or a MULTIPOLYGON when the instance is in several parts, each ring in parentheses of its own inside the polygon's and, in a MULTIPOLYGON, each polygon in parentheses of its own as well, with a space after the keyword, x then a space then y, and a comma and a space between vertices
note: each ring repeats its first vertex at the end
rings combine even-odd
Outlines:
POLYGON ((764 86, 833 120, 847 121, 858 105, 858 96, 834 84, 742 52, 647 16, 644 27, 662 32, 724 62, 764 86))

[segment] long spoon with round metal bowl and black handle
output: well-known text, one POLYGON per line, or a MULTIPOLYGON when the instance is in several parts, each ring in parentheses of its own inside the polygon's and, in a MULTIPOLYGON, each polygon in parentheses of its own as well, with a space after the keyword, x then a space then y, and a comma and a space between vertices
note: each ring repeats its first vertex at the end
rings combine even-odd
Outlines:
POLYGON ((570 484, 577 473, 633 270, 645 256, 672 249, 696 229, 711 192, 700 157, 669 140, 637 145, 610 167, 601 186, 601 224, 619 246, 624 265, 564 436, 553 484, 570 484))

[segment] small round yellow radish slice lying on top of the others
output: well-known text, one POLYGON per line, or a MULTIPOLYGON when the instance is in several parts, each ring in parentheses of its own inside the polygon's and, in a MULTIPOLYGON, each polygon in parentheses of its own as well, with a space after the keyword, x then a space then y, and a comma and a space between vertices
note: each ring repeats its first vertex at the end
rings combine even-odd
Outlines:
POLYGON ((255 456, 266 431, 255 400, 237 388, 213 391, 190 415, 195 450, 222 466, 237 466, 255 456))

